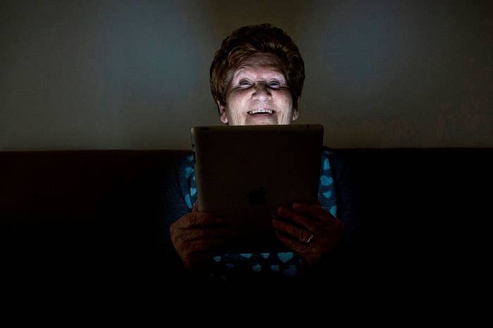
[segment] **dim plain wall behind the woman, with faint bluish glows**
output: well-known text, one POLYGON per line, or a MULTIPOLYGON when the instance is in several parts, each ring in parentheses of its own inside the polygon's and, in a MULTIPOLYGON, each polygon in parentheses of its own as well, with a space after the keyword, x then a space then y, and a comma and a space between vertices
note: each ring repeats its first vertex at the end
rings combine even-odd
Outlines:
POLYGON ((493 146, 491 1, 3 1, 0 150, 189 149, 223 38, 299 45, 330 147, 493 146))

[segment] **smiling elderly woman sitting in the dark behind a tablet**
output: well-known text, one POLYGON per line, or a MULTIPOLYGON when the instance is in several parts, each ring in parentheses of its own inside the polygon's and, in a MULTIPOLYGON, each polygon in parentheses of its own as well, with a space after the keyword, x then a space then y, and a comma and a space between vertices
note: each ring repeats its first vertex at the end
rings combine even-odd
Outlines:
MULTIPOLYGON (((288 125, 297 120, 304 62, 292 39, 279 28, 263 24, 235 30, 216 52, 210 73, 211 92, 221 122, 288 125)), ((337 187, 342 186, 344 174, 332 170, 332 162, 332 152, 324 151, 320 203, 282 206, 273 218, 277 238, 292 252, 223 254, 221 249, 235 237, 235 232, 215 213, 197 211, 192 160, 184 159, 177 169, 182 203, 174 203, 171 212, 176 217, 170 225, 171 241, 183 265, 190 272, 223 279, 234 275, 258 277, 262 273, 292 277, 330 258, 342 241, 344 217, 339 220, 336 215, 339 201, 346 198, 340 192, 344 188, 337 187)))

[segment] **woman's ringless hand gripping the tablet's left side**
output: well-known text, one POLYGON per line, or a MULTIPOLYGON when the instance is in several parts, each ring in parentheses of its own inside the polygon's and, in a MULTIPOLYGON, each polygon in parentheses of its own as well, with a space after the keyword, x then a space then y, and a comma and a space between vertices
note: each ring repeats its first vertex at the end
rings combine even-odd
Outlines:
POLYGON ((213 256, 236 234, 218 215, 199 212, 195 204, 192 213, 183 215, 170 226, 170 235, 187 270, 198 272, 211 263, 213 256))

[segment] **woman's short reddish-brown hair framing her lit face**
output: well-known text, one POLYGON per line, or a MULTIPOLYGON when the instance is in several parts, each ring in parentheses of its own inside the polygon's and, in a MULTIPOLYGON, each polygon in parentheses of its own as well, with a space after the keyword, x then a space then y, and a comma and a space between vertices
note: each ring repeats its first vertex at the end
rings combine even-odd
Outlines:
POLYGON ((280 70, 287 80, 294 108, 298 108, 305 80, 305 65, 298 47, 289 35, 270 24, 240 27, 226 37, 216 51, 210 70, 214 101, 226 103, 226 89, 231 73, 254 53, 273 53, 280 60, 280 70))

